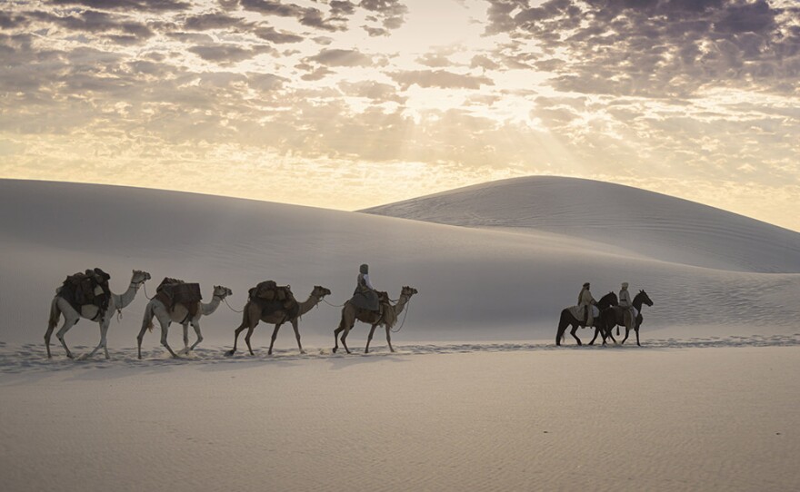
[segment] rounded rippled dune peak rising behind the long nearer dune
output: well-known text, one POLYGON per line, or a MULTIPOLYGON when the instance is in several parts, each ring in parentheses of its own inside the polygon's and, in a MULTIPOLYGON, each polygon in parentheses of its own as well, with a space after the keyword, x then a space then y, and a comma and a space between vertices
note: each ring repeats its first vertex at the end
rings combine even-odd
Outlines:
POLYGON ((707 268, 800 272, 800 233, 628 186, 561 177, 488 182, 366 209, 415 221, 550 231, 707 268))

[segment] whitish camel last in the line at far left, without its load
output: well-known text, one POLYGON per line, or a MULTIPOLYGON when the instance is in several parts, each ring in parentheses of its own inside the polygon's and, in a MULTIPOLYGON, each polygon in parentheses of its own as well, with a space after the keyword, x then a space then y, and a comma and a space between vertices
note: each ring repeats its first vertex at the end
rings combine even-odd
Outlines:
POLYGON ((122 311, 128 304, 133 302, 134 298, 136 297, 136 292, 147 280, 150 280, 150 274, 146 271, 133 271, 128 290, 125 290, 125 293, 123 294, 115 294, 112 292, 111 299, 108 300, 108 309, 102 312, 100 308, 93 304, 85 304, 81 306, 81 311, 78 312, 69 302, 67 302, 67 300, 61 297, 61 287, 56 289, 55 297, 50 304, 50 320, 47 323, 47 331, 45 332, 47 358, 50 359, 52 357, 50 354, 50 336, 53 334, 55 325, 58 324, 58 319, 63 314, 64 325, 61 327, 61 330, 58 330, 58 332, 55 333, 55 337, 61 341, 61 345, 64 346, 64 349, 66 350, 66 357, 75 359, 72 352, 66 346, 64 336, 66 335, 67 331, 75 326, 75 323, 81 320, 81 318, 85 318, 86 320, 97 321, 100 324, 100 343, 97 344, 97 347, 95 347, 95 349, 92 350, 92 352, 86 357, 93 357, 95 352, 103 347, 103 350, 105 351, 105 359, 108 359, 108 347, 106 345, 105 335, 108 332, 108 326, 111 324, 111 315, 115 310, 122 311))

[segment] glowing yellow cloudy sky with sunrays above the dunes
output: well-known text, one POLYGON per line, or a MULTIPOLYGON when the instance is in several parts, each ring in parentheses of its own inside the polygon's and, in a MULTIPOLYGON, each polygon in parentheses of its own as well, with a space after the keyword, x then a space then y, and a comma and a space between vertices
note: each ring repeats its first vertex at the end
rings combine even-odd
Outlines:
POLYGON ((528 175, 800 231, 800 3, 0 9, 2 178, 357 210, 528 175))

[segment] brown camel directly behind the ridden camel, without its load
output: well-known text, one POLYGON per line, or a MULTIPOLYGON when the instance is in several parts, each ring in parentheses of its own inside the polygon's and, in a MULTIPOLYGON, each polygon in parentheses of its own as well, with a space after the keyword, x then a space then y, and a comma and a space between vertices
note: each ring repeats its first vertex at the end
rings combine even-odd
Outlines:
POLYGON ((310 311, 317 304, 319 304, 325 298, 325 296, 330 294, 330 290, 325 289, 325 287, 315 285, 314 290, 312 290, 308 295, 308 299, 303 302, 298 302, 296 309, 285 310, 283 307, 281 307, 281 309, 273 310, 268 314, 264 314, 264 304, 265 302, 270 301, 263 301, 259 299, 254 300, 252 298, 247 300, 244 313, 242 314, 242 324, 239 325, 239 328, 237 328, 234 333, 234 348, 228 350, 227 355, 234 355, 236 353, 236 342, 239 339, 239 333, 245 330, 245 328, 247 329, 247 335, 245 335, 247 349, 250 350, 250 355, 255 355, 253 348, 250 346, 250 337, 253 336, 253 330, 255 330, 255 325, 258 324, 259 320, 275 325, 275 330, 272 332, 272 339, 269 342, 269 352, 267 352, 268 355, 272 355, 272 349, 273 346, 275 346, 275 339, 278 336, 278 330, 281 329, 281 325, 283 325, 285 322, 292 323, 292 328, 295 329, 297 347, 300 349, 301 354, 305 354, 303 345, 300 343, 300 329, 297 326, 297 321, 300 320, 300 317, 306 312, 310 311))

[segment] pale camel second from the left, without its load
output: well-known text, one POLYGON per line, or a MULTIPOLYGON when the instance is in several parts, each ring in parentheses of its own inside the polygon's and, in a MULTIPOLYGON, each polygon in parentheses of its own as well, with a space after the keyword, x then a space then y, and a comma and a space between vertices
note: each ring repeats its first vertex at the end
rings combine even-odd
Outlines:
POLYGON ((145 319, 142 320, 142 330, 139 330, 139 335, 136 337, 139 359, 142 359, 142 339, 145 338, 145 330, 153 331, 153 316, 155 316, 155 318, 158 320, 158 324, 161 325, 161 344, 164 345, 167 350, 169 350, 169 353, 173 357, 177 357, 177 354, 175 354, 173 349, 166 342, 166 335, 169 331, 169 325, 173 321, 183 325, 184 349, 181 353, 188 354, 190 351, 194 350, 201 341, 203 341, 203 335, 200 333, 200 317, 208 316, 209 314, 213 313, 216 308, 219 307, 220 302, 232 294, 233 291, 227 287, 215 285, 214 295, 211 298, 211 302, 206 304, 204 302, 200 302, 199 300, 197 301, 197 304, 200 306, 199 309, 196 310, 194 318, 189 318, 189 310, 186 308, 185 304, 176 304, 171 310, 166 310, 164 302, 159 300, 158 296, 151 299, 145 308, 145 319), (195 329, 195 333, 197 334, 197 339, 191 347, 189 347, 189 323, 192 323, 192 328, 195 329))

